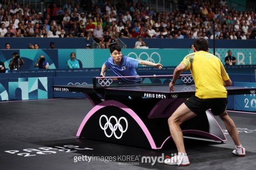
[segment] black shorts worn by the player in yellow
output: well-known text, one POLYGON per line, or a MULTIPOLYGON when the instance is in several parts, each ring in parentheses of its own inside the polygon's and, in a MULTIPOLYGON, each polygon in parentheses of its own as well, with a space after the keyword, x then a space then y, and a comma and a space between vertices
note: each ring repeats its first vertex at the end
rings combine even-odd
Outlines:
POLYGON ((220 115, 226 110, 228 99, 227 98, 213 98, 213 99, 200 99, 193 95, 184 104, 194 112, 196 115, 205 113, 208 109, 212 109, 212 114, 215 116, 220 115))

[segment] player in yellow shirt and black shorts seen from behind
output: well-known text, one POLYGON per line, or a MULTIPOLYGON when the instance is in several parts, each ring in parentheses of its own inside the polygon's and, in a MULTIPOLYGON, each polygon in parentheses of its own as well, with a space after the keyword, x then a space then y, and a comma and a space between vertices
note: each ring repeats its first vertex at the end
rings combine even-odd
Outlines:
POLYGON ((172 116, 168 119, 171 136, 178 149, 178 154, 172 158, 166 158, 168 165, 189 165, 189 159, 185 151, 183 134, 180 124, 192 119, 205 111, 212 109, 215 116, 219 116, 224 122, 228 133, 235 143, 233 154, 245 156, 245 148, 242 147, 238 138, 236 125, 228 116, 226 105, 228 103, 225 86, 232 85, 226 70, 220 59, 208 53, 208 41, 204 38, 197 38, 194 41, 194 53, 188 54, 183 61, 175 68, 173 79, 170 82, 170 91, 174 91, 174 85, 182 71, 190 69, 196 93, 186 100, 172 116))

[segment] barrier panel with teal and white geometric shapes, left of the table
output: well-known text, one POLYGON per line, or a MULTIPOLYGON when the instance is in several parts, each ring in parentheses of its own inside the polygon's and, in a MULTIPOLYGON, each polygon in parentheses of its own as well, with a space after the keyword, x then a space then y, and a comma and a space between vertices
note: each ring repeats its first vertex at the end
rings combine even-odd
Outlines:
POLYGON ((53 77, 8 79, 9 100, 53 98, 53 77))

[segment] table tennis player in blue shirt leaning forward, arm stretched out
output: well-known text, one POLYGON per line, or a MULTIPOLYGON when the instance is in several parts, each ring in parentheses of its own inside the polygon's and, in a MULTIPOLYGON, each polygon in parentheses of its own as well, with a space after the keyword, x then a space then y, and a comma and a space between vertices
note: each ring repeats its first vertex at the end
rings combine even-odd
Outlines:
MULTIPOLYGON (((121 47, 119 45, 113 45, 110 47, 110 56, 106 62, 102 65, 100 76, 104 77, 104 72, 106 69, 111 69, 116 76, 138 76, 135 68, 138 68, 138 65, 148 65, 158 67, 162 69, 162 64, 152 63, 150 61, 138 60, 132 57, 122 55, 121 47)), ((141 81, 140 77, 134 78, 122 78, 122 80, 132 83, 141 81)))

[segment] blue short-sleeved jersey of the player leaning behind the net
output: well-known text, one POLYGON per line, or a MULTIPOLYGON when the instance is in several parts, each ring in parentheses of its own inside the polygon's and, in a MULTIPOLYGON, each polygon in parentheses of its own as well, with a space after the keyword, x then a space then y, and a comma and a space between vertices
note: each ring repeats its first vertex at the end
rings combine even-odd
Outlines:
MULTIPOLYGON (((128 56, 122 56, 121 62, 119 65, 114 63, 112 57, 108 58, 105 62, 105 65, 113 71, 116 76, 138 76, 136 68, 138 68, 139 60, 134 59, 128 56)), ((140 77, 134 78, 122 78, 124 82, 138 82, 141 81, 140 77)))

